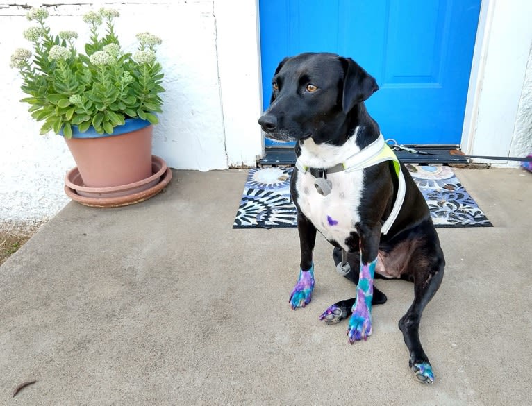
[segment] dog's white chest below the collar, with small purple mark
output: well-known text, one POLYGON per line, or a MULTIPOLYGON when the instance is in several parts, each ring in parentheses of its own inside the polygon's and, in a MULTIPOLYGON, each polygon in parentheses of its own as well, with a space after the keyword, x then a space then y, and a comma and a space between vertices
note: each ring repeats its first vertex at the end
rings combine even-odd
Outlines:
POLYGON ((315 177, 308 172, 297 174, 297 204, 301 212, 312 221, 315 228, 329 241, 335 241, 346 251, 345 240, 356 231, 358 208, 363 189, 363 171, 345 171, 329 174, 331 193, 323 196, 317 192, 315 177))

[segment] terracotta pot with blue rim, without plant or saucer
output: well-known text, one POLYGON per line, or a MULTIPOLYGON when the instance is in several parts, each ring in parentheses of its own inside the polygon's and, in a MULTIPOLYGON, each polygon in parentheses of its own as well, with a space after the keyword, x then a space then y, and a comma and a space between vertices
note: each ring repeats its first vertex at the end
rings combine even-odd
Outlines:
POLYGON ((112 135, 100 135, 91 127, 85 133, 72 130, 67 146, 76 161, 83 185, 113 187, 149 178, 151 138, 149 121, 128 119, 112 135))

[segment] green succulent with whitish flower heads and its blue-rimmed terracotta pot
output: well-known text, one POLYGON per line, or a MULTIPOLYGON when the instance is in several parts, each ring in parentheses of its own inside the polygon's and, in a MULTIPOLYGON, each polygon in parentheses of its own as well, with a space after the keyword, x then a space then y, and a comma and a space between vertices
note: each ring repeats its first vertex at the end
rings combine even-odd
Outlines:
POLYGON ((125 53, 115 33, 119 12, 101 8, 83 15, 90 39, 78 52, 78 34, 53 35, 45 8, 32 8, 27 16, 36 23, 24 31, 33 51, 17 49, 11 66, 19 70, 21 89, 28 94, 21 101, 30 105, 31 117, 44 121, 40 133, 63 135, 85 187, 149 178, 152 124, 162 112, 160 93, 165 91, 156 58, 160 38, 140 33, 138 50, 125 53), (124 165, 115 167, 120 161, 124 165))

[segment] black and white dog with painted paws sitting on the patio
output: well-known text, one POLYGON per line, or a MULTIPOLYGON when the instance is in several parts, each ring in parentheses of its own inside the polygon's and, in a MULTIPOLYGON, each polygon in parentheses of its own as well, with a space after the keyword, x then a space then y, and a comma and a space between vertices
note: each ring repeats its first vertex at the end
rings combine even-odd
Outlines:
POLYGON ((319 231, 334 246, 337 270, 357 285, 355 298, 331 305, 320 319, 349 318, 349 342, 365 340, 372 333, 372 305, 386 301, 374 278, 413 282, 414 301, 399 329, 410 369, 420 382, 432 383, 419 322, 440 287, 445 260, 421 192, 365 108, 377 90, 360 65, 333 53, 301 53, 275 71, 271 103, 258 123, 268 138, 296 142, 290 193, 301 261, 290 305, 310 303, 319 231))

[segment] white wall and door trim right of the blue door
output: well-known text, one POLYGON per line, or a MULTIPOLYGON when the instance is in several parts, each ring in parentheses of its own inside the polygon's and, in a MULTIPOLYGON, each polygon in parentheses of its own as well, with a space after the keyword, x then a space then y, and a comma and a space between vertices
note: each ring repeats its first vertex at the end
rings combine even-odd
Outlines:
MULTIPOLYGON (((462 142, 462 149, 470 155, 525 156, 531 152, 531 15, 530 0, 482 1, 462 142)), ((499 167, 519 165, 475 161, 499 167)))

